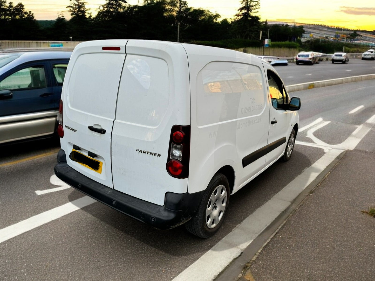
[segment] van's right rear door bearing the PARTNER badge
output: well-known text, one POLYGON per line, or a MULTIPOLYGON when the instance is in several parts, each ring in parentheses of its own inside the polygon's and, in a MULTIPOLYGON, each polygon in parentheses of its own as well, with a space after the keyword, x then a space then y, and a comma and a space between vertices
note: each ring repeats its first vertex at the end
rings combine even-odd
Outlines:
POLYGON ((180 44, 129 40, 112 133, 114 189, 163 205, 187 192, 166 170, 174 125, 190 125, 187 55, 180 44))

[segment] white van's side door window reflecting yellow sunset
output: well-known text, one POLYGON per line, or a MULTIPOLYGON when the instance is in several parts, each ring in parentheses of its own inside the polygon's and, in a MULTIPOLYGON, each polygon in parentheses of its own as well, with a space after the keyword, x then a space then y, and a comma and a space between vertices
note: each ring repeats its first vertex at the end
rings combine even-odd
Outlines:
POLYGON ((287 92, 285 91, 281 79, 275 72, 272 72, 271 70, 267 70, 267 78, 273 108, 283 109, 282 105, 284 103, 289 103, 289 97, 287 95, 287 92))

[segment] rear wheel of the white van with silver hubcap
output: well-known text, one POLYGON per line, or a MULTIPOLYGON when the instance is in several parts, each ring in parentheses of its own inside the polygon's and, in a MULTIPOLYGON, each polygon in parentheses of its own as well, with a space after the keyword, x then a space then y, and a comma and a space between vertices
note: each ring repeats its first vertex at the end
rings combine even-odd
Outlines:
POLYGON ((200 238, 208 238, 223 223, 229 203, 229 182, 222 173, 216 173, 204 191, 195 215, 185 223, 187 231, 200 238))

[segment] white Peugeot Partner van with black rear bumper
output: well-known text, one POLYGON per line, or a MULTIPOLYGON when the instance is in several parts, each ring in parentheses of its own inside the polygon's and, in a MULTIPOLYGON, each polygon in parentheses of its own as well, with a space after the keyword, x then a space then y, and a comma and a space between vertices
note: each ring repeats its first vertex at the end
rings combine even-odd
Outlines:
POLYGON ((80 43, 63 84, 55 174, 153 227, 185 223, 207 238, 232 194, 290 159, 299 108, 253 55, 151 40, 80 43))

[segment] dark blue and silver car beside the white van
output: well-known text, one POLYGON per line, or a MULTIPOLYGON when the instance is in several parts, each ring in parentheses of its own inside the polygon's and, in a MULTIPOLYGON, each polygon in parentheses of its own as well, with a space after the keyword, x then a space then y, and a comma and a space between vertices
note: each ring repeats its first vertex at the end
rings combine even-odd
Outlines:
POLYGON ((53 135, 71 51, 0 52, 0 144, 53 135))

